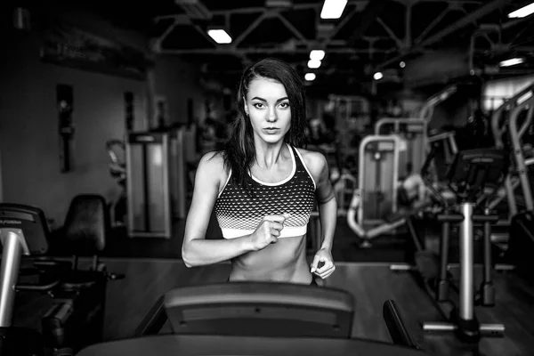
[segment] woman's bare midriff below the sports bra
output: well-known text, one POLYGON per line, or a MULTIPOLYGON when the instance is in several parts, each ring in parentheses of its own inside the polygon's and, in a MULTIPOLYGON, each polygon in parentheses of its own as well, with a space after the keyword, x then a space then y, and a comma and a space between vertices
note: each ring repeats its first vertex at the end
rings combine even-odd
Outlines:
POLYGON ((263 250, 231 260, 231 281, 257 280, 310 284, 312 273, 306 261, 304 236, 278 239, 263 250))

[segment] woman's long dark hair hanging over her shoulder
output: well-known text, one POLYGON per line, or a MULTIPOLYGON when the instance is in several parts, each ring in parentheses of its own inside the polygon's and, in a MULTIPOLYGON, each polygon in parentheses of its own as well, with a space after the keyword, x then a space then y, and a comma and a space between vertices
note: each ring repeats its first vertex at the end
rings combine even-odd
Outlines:
POLYGON ((233 120, 229 139, 224 144, 223 159, 224 166, 231 168, 233 181, 247 192, 250 192, 248 188, 252 182, 247 173, 255 163, 255 145, 253 128, 245 112, 245 98, 250 83, 259 77, 276 80, 286 89, 291 109, 291 127, 284 142, 302 147, 307 125, 303 80, 295 69, 286 62, 273 58, 263 59, 245 69, 239 81, 238 114, 233 120))

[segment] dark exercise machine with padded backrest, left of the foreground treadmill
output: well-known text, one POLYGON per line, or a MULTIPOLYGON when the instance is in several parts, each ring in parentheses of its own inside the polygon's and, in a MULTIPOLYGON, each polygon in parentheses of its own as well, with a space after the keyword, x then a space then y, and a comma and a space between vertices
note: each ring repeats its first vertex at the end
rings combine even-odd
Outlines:
POLYGON ((61 245, 71 261, 44 258, 34 263, 61 283, 49 291, 53 305, 41 320, 44 343, 53 349, 77 351, 102 339, 108 281, 125 278, 107 271, 100 255, 109 234, 109 210, 105 198, 80 194, 72 199, 60 233, 52 239, 61 245), (89 257, 82 268, 80 258, 89 257))

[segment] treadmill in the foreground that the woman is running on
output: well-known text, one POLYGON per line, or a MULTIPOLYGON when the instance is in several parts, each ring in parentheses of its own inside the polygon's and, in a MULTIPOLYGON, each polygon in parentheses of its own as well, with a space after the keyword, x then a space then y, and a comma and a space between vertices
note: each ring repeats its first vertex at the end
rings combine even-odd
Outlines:
POLYGON ((392 301, 384 303, 383 316, 393 344, 351 338, 353 303, 341 289, 279 282, 180 287, 158 300, 133 338, 89 346, 78 355, 425 354, 392 301), (171 335, 155 336, 167 320, 171 335))

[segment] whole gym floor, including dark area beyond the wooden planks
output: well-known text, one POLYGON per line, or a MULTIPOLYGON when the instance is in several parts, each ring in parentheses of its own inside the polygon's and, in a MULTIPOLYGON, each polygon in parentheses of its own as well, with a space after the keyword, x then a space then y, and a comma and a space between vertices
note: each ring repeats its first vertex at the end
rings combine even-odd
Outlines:
MULTIPOLYGON (((218 239, 220 231, 213 223, 208 228, 208 236, 218 239)), ((109 282, 105 340, 133 336, 152 304, 169 289, 228 278, 230 263, 194 269, 184 266, 180 259, 183 225, 183 222, 176 223, 173 239, 127 239, 120 234, 109 238, 102 261, 109 271, 125 273, 126 277, 109 282)), ((424 334, 420 323, 442 320, 441 314, 409 272, 389 270, 390 263, 409 262, 406 241, 402 236, 384 237, 376 239, 372 248, 360 249, 352 231, 343 219, 339 220, 333 251, 337 269, 325 285, 343 288, 354 295, 356 312, 352 336, 390 342, 382 319, 382 304, 392 299, 399 305, 417 344, 430 354, 534 354, 534 285, 513 272, 495 273, 497 301, 494 307, 476 307, 481 322, 505 324, 504 338, 485 338, 473 347, 461 344, 452 334, 424 334)), ((51 252, 65 256, 57 247, 51 252)), ((476 278, 480 278, 480 268, 475 273, 476 278)), ((13 315, 15 326, 40 329, 40 315, 50 303, 46 295, 19 293, 13 315)), ((167 329, 166 326, 163 331, 167 329)))

